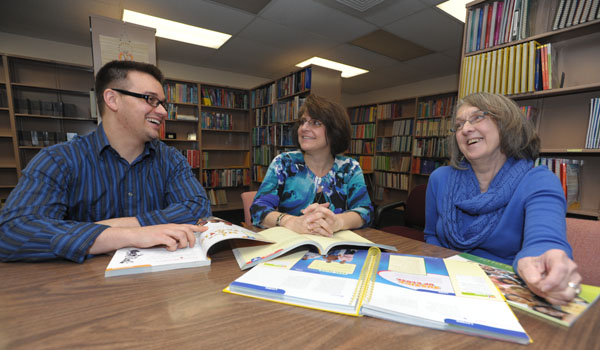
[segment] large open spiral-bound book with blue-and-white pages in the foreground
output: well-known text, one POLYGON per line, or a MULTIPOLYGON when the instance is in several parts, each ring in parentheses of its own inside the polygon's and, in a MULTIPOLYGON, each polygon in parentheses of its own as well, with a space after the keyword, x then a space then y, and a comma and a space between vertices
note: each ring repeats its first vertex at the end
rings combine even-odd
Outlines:
POLYGON ((340 249, 261 263, 225 292, 263 300, 530 342, 510 307, 476 264, 340 249))

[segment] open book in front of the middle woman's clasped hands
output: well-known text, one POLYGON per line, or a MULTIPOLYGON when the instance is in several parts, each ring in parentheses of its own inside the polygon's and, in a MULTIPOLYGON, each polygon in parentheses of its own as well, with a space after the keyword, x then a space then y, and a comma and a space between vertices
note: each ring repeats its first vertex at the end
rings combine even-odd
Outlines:
POLYGON ((387 250, 397 250, 396 247, 376 244, 352 231, 339 231, 333 237, 303 235, 285 227, 272 227, 260 232, 261 236, 274 244, 240 247, 233 249, 233 254, 240 268, 245 270, 256 264, 274 259, 300 246, 315 247, 320 254, 327 254, 331 249, 341 246, 379 247, 387 250))

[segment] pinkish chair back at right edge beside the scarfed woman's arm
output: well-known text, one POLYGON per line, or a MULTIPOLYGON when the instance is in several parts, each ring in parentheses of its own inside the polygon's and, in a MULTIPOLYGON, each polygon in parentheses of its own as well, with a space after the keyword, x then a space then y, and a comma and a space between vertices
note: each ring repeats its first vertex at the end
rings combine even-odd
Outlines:
POLYGON ((567 218, 567 240, 583 283, 600 286, 600 221, 567 218))

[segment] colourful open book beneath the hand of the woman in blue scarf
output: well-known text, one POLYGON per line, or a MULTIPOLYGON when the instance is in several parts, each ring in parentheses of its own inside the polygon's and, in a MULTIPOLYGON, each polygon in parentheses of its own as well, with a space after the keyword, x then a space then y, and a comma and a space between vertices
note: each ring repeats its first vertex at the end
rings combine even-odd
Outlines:
POLYGON ((529 290, 510 265, 468 253, 460 253, 450 259, 478 263, 511 306, 565 327, 570 327, 600 296, 600 287, 582 284, 581 293, 571 303, 552 305, 529 290))

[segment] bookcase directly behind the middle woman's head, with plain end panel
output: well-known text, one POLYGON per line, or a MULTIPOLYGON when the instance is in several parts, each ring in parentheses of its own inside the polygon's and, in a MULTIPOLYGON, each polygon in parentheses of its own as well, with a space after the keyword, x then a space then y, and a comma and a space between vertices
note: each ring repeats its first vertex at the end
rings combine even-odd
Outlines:
POLYGON ((296 149, 294 124, 310 94, 340 102, 340 72, 308 66, 251 90, 253 182, 262 182, 275 156, 296 149))

